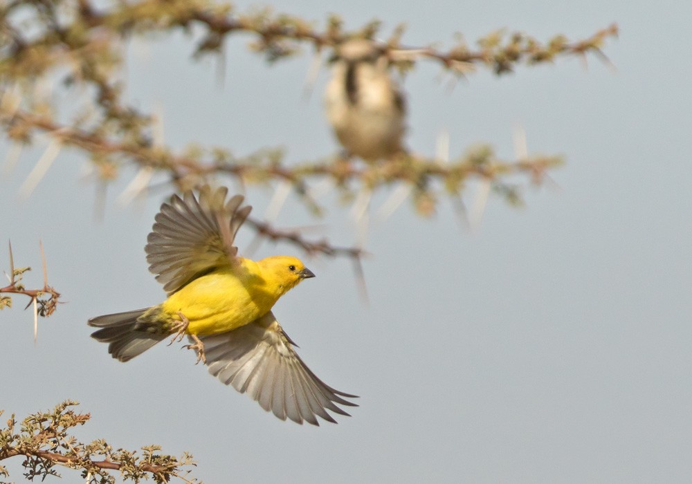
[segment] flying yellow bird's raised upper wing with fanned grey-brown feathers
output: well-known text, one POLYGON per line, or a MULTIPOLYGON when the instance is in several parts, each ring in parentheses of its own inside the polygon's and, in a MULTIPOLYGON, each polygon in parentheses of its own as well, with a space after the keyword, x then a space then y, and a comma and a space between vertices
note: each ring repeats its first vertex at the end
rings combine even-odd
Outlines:
POLYGON ((190 191, 161 205, 147 237, 147 262, 156 280, 172 294, 185 284, 219 267, 237 262, 235 234, 252 207, 241 207, 243 196, 226 202, 228 190, 205 186, 199 199, 190 191))

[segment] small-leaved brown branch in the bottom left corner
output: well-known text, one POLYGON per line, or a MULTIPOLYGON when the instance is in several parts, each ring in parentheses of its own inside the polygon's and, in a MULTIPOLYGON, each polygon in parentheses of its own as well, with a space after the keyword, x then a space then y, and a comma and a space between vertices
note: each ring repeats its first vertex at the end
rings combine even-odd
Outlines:
MULTIPOLYGON (((88 444, 79 442, 69 435, 69 431, 84 425, 91 416, 89 413, 75 413, 69 408, 75 405, 78 402, 68 400, 53 411, 28 416, 19 426, 12 415, 7 420, 7 427, 0 427, 0 460, 24 456, 24 476, 29 480, 59 476, 54 467, 62 465, 80 469, 87 484, 114 482, 109 474, 113 470, 119 471, 125 481, 153 478, 156 483, 168 483, 170 478, 177 477, 189 484, 199 482, 188 478, 191 471, 184 469, 195 465, 190 454, 185 453, 180 458, 157 454, 161 447, 150 445, 142 447, 143 454, 138 456, 137 452, 113 449, 105 440, 88 444)), ((9 476, 3 466, 0 466, 0 476, 9 476)))

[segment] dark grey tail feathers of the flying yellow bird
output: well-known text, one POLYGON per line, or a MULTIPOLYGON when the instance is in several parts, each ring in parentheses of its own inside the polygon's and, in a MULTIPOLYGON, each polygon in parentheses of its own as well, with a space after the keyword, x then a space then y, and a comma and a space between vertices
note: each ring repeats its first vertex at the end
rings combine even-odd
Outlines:
POLYGON ((101 329, 91 333, 91 337, 108 343, 108 353, 121 362, 127 362, 169 334, 166 331, 156 331, 156 326, 140 321, 140 317, 149 309, 92 317, 89 319, 89 326, 101 329))

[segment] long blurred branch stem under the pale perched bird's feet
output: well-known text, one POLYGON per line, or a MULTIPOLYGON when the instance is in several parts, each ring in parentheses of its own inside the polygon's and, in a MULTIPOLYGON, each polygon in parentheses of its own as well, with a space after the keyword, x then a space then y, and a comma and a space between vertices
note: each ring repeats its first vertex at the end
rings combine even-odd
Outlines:
MULTIPOLYGON (((92 156, 115 155, 143 167, 149 167, 170 174, 172 181, 189 176, 200 178, 226 174, 240 178, 244 183, 253 180, 282 179, 298 183, 306 178, 328 176, 338 185, 350 181, 367 183, 370 187, 396 181, 418 183, 420 178, 432 177, 439 180, 466 176, 480 176, 495 179, 509 174, 544 172, 561 165, 559 156, 534 156, 517 161, 503 161, 495 158, 487 147, 471 151, 466 156, 450 162, 426 158, 415 153, 382 160, 376 165, 368 165, 351 159, 326 158, 315 162, 285 163, 278 150, 263 149, 246 158, 237 158, 222 149, 210 149, 214 160, 203 160, 199 151, 197 156, 174 154, 161 147, 137 145, 132 142, 109 140, 97 133, 62 126, 57 122, 26 111, 16 111, 8 118, 0 106, 0 122, 11 124, 22 133, 39 130, 60 140, 62 145, 76 147, 92 156)), ((196 182, 194 185, 201 185, 196 182)))

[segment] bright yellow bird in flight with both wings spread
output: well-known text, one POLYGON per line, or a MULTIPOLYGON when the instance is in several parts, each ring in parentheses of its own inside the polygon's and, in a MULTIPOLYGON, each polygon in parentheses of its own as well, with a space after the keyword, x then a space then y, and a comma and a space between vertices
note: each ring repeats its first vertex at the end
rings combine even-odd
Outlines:
POLYGON ((302 362, 271 308, 303 279, 315 277, 295 257, 252 261, 238 256, 235 234, 252 207, 227 190, 203 187, 161 205, 147 237, 147 262, 168 298, 158 306, 89 319, 91 336, 127 362, 154 344, 188 335, 197 361, 282 420, 336 423, 327 410, 357 407, 357 398, 323 383, 302 362))

